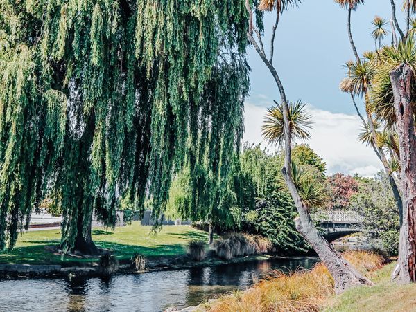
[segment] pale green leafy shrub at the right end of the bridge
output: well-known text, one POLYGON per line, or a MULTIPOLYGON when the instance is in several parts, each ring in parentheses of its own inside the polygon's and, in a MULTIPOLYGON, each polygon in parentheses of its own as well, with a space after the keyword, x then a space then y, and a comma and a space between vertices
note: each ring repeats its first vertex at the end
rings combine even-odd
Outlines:
POLYGON ((385 174, 380 172, 375 179, 359 179, 358 193, 352 196, 351 205, 363 217, 365 234, 380 239, 388 253, 397 255, 399 210, 385 174))

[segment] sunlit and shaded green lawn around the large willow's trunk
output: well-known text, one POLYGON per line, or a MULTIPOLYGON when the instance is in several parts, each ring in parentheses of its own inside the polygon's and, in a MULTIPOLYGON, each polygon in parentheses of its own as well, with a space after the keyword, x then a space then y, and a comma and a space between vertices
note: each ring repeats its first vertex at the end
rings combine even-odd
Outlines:
MULTIPOLYGON (((141 226, 139 221, 115 230, 93 228, 92 239, 101 248, 115 250, 119 259, 128 259, 135 253, 146 257, 183 255, 191 239, 207 240, 207 232, 191 226, 164 226, 151 233, 151 226, 141 226)), ((60 243, 59 230, 26 232, 19 236, 15 249, 0 253, 0 263, 9 264, 62 264, 68 261, 96 261, 77 257, 61 257, 45 247, 60 243)))

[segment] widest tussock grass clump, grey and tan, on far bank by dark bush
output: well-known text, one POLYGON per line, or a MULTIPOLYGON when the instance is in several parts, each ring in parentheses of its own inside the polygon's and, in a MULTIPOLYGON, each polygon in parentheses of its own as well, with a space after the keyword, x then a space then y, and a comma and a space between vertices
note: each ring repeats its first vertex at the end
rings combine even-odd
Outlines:
POLYGON ((272 249, 272 243, 265 237, 234 232, 216 239, 213 246, 218 257, 226 260, 234 257, 268 253, 272 249))

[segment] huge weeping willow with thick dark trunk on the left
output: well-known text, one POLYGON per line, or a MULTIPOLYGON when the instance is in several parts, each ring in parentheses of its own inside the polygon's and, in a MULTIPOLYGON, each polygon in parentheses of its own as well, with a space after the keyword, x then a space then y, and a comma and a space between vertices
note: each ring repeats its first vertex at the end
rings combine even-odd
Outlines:
POLYGON ((120 196, 164 210, 172 175, 218 201, 248 89, 243 1, 0 0, 0 249, 53 190, 62 247, 94 254, 120 196))

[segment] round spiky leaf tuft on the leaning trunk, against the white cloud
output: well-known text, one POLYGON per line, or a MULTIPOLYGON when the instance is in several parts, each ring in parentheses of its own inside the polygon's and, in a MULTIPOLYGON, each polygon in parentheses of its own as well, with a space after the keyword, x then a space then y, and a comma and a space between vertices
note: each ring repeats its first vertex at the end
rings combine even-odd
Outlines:
MULTIPOLYGON (((288 103, 289 106, 289 127, 291 136, 294 139, 308 140, 311 138, 308 129, 312 128, 311 115, 306 113, 302 101, 288 103)), ((275 101, 275 106, 268 109, 263 126, 263 138, 275 145, 284 143, 284 122, 281 104, 275 101)))

